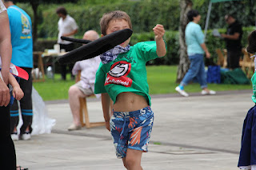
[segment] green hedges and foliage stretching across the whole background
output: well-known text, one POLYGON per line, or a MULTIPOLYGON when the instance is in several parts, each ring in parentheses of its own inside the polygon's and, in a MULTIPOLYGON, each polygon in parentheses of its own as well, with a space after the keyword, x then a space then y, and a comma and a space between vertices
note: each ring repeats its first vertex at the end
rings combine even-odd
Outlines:
MULTIPOLYGON (((210 14, 209 29, 219 28, 221 33, 226 31, 226 22, 224 21, 224 15, 236 14, 239 16, 238 20, 242 22, 244 28, 244 34, 242 38, 242 45, 246 46, 248 34, 254 30, 256 3, 255 0, 243 0, 234 2, 218 2, 212 6, 210 14)), ((208 10, 208 4, 210 0, 193 0, 194 9, 198 10, 202 15, 201 23, 204 28, 206 14, 208 10)), ((25 9, 31 17, 33 17, 33 10, 29 3, 18 4, 25 9)), ((42 4, 38 8, 39 26, 38 37, 47 39, 56 39, 58 36, 58 15, 55 14, 55 10, 59 5, 42 4)), ((99 20, 102 14, 111 10, 124 10, 130 15, 133 23, 134 34, 131 38, 131 44, 142 41, 154 40, 154 34, 152 28, 157 23, 161 23, 165 26, 166 34, 165 40, 167 45, 166 57, 159 58, 154 61, 150 61, 149 64, 154 65, 174 65, 179 61, 179 41, 178 41, 178 26, 179 26, 179 0, 79 0, 78 3, 65 3, 62 4, 68 10, 70 16, 72 16, 79 26, 77 38, 82 38, 82 35, 86 30, 97 30, 100 34, 99 20)), ((214 58, 217 61, 216 48, 225 48, 225 42, 222 39, 214 38, 211 35, 211 30, 207 33, 206 45, 214 58)))

